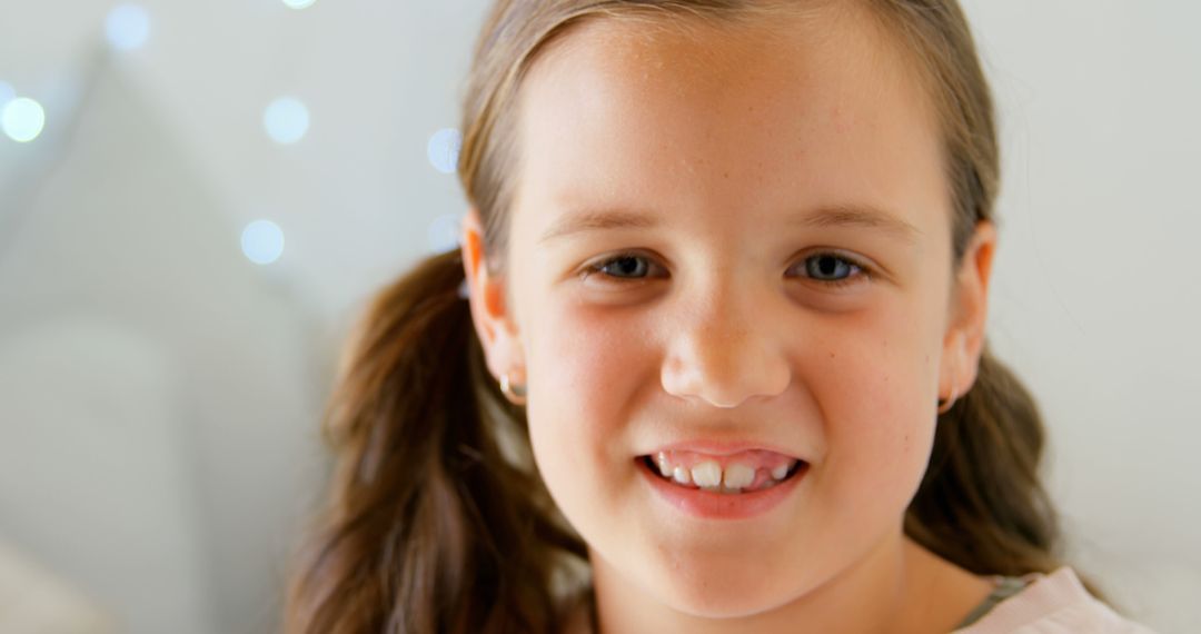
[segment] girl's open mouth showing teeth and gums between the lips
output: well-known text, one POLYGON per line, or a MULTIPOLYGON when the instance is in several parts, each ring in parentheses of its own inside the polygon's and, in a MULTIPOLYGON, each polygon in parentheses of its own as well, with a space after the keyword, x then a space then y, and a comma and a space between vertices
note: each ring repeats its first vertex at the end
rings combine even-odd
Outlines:
POLYGON ((734 455, 658 451, 635 459, 650 473, 679 489, 728 496, 748 495, 789 482, 808 463, 775 451, 749 450, 734 455))

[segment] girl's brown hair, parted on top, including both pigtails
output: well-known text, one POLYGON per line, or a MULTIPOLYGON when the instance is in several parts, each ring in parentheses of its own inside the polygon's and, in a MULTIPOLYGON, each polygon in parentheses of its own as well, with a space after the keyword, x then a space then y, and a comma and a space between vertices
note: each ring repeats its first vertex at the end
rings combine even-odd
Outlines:
MULTIPOLYGON (((976 222, 993 220, 999 181, 992 97, 972 34, 954 0, 862 4, 912 58, 939 112, 956 270, 976 222)), ((476 47, 459 156, 489 265, 500 267, 507 249, 518 90, 549 42, 587 19, 734 19, 788 5, 496 2, 476 47)), ((486 370, 462 282, 458 251, 430 257, 375 298, 352 336, 325 415, 336 472, 297 561, 288 632, 562 626, 564 573, 586 549, 533 466, 524 411, 486 370)), ((1034 400, 986 345, 976 382, 940 417, 906 533, 976 574, 1053 570, 1060 534, 1039 478, 1044 442, 1034 400)))

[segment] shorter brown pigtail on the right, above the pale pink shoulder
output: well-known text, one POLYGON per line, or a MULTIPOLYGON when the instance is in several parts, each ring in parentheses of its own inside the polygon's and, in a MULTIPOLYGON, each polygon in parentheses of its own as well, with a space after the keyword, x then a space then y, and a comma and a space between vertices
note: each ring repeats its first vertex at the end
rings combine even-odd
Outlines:
POLYGON ((1040 476, 1045 444, 1033 396, 986 345, 975 384, 939 417, 906 534, 975 574, 1053 572, 1063 562, 1062 531, 1040 476))

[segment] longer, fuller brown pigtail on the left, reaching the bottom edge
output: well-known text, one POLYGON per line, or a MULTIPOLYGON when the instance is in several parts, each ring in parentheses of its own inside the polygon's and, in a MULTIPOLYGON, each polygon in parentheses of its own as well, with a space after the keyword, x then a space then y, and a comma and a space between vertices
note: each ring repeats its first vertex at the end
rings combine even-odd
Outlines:
POLYGON ((352 336, 325 412, 328 508, 298 557, 289 633, 557 629, 551 572, 585 550, 530 463, 503 450, 502 436, 527 447, 527 432, 486 371, 462 281, 459 252, 430 257, 352 336))

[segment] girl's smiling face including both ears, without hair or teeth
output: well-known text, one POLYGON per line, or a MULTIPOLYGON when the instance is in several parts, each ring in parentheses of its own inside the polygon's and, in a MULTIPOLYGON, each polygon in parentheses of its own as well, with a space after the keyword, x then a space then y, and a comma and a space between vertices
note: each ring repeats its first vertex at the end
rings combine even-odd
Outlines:
POLYGON ((993 240, 952 275, 937 120, 897 52, 849 13, 599 20, 521 90, 508 269, 465 239, 472 310, 492 372, 525 370, 598 592, 748 615, 895 554, 936 400, 974 381, 993 240), (797 466, 707 492, 649 468, 670 449, 754 486, 797 466))

